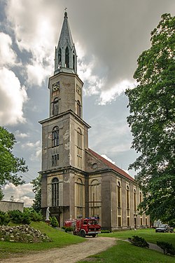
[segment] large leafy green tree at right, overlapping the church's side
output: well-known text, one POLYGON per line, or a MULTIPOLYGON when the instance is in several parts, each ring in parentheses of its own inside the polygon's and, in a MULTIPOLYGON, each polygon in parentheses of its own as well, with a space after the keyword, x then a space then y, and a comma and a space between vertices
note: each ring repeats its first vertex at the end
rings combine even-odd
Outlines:
POLYGON ((137 60, 137 87, 127 89, 132 148, 139 157, 129 168, 144 201, 139 205, 152 220, 175 218, 175 17, 163 14, 151 32, 151 48, 137 60))

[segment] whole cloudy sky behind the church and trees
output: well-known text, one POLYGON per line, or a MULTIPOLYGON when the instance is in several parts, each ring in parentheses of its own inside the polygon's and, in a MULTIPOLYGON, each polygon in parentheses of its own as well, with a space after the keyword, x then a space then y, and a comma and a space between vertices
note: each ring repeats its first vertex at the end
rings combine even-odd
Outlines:
MULTIPOLYGON (((174 0, 0 0, 0 125, 15 134, 15 156, 24 157, 26 184, 7 184, 5 200, 31 205, 29 183, 41 170, 41 125, 48 117, 48 77, 67 8, 84 82, 83 119, 92 126, 89 146, 127 170, 130 149, 125 89, 136 85, 137 58, 174 0)), ((134 171, 129 172, 134 176, 134 171)))

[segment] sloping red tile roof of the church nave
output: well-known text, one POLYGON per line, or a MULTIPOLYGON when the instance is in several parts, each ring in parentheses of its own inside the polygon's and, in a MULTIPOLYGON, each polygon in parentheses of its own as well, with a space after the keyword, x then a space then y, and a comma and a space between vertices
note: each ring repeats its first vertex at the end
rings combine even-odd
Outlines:
POLYGON ((111 168, 112 170, 115 170, 117 173, 119 173, 120 175, 123 175, 124 177, 126 177, 129 180, 134 181, 134 178, 131 177, 130 175, 128 175, 128 173, 126 173, 124 170, 122 170, 121 168, 119 168, 118 166, 115 166, 113 163, 111 163, 110 161, 106 160, 104 157, 100 156, 99 154, 97 154, 97 152, 92 151, 92 149, 88 149, 88 151, 90 152, 90 154, 92 154, 93 156, 95 156, 97 159, 99 159, 100 161, 102 161, 106 166, 108 166, 109 168, 111 168))

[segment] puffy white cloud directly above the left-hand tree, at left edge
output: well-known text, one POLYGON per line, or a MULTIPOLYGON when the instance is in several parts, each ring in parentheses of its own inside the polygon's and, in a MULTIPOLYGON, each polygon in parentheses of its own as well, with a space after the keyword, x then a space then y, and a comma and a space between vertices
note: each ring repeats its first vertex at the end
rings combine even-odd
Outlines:
POLYGON ((3 126, 24 123, 22 107, 27 101, 25 86, 15 74, 6 69, 0 69, 0 123, 3 126))

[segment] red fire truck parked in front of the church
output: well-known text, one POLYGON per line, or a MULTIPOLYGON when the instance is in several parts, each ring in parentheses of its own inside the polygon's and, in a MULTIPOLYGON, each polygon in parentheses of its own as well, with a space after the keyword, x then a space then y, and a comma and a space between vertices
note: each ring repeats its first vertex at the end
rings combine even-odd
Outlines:
POLYGON ((92 236, 93 238, 101 233, 101 226, 98 217, 87 217, 76 220, 66 220, 64 227, 72 227, 73 234, 82 236, 92 236))

